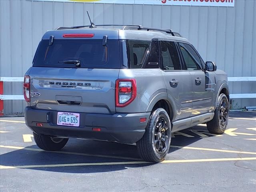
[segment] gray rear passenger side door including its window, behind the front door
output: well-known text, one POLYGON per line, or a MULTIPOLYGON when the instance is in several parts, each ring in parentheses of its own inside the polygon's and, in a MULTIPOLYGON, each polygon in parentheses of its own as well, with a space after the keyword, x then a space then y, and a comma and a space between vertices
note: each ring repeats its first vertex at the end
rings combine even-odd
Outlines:
POLYGON ((193 85, 191 74, 182 70, 181 61, 175 42, 160 40, 160 60, 162 74, 167 87, 168 100, 176 106, 173 121, 188 118, 192 112, 193 85))

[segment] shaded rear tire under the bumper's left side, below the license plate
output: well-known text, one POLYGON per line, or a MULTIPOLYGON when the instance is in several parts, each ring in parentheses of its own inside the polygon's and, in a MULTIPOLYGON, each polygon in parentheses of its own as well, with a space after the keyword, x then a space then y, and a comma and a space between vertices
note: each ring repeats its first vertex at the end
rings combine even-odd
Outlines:
POLYGON ((36 145, 46 151, 61 150, 68 142, 67 138, 54 138, 46 135, 38 135, 33 132, 36 145))

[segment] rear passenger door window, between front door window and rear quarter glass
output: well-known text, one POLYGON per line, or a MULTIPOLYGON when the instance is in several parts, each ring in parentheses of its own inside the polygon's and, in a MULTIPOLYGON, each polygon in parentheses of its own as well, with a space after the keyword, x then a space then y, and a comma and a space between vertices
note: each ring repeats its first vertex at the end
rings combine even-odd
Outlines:
POLYGON ((164 70, 181 70, 180 58, 174 42, 160 41, 161 60, 164 70))

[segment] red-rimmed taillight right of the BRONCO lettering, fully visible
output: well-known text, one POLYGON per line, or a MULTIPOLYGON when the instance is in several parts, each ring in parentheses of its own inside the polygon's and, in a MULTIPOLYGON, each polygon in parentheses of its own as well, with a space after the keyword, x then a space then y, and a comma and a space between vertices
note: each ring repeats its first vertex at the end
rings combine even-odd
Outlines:
POLYGON ((137 94, 135 79, 116 80, 116 107, 125 107, 130 104, 137 94))

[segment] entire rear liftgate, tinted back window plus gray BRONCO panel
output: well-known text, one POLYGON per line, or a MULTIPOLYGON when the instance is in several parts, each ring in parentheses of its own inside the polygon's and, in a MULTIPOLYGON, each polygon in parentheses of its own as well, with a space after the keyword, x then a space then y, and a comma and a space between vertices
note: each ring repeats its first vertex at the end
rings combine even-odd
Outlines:
POLYGON ((40 43, 29 74, 32 108, 114 114, 118 40, 108 40, 106 46, 96 39, 48 42, 40 43))

